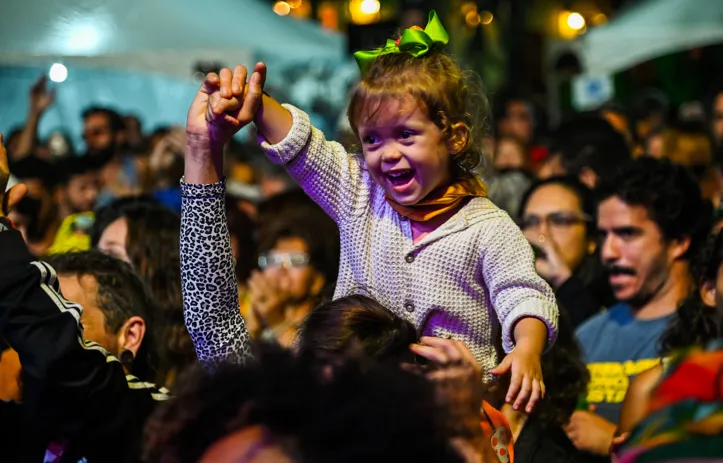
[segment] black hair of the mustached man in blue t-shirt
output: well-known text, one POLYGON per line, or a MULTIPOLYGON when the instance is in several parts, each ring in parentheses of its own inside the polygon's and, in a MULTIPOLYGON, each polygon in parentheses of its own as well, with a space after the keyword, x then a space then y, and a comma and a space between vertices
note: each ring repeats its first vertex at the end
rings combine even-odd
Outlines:
POLYGON ((712 206, 701 197, 698 182, 685 167, 667 159, 629 161, 603 179, 597 193, 601 202, 616 196, 644 207, 667 241, 689 237, 688 258, 705 243, 713 222, 712 206))

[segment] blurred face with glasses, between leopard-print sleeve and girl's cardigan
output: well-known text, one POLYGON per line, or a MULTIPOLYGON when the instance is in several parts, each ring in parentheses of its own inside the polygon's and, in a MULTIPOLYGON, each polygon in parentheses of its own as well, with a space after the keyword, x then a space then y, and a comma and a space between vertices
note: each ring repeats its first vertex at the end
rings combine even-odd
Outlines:
POLYGON ((309 248, 298 237, 281 238, 266 255, 270 263, 264 274, 276 280, 282 291, 296 302, 303 302, 318 295, 326 281, 314 267, 309 265, 309 248))

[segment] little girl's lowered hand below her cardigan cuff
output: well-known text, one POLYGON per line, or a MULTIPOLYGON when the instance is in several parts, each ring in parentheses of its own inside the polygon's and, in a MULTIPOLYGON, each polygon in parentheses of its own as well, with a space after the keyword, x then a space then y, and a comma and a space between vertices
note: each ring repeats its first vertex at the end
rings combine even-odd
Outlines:
POLYGON ((531 413, 537 402, 545 396, 540 353, 536 349, 529 349, 518 344, 502 360, 502 363, 492 370, 492 374, 499 376, 510 371, 512 378, 505 400, 508 403, 514 401, 513 408, 515 410, 519 410, 526 402, 525 411, 531 413))

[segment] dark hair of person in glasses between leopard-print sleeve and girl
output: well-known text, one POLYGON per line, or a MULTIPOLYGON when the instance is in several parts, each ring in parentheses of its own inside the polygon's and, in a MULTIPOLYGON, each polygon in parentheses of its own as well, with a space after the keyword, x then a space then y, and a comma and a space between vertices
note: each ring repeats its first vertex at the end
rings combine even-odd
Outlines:
POLYGON ((330 288, 339 272, 339 229, 316 203, 300 190, 274 196, 259 206, 259 251, 268 252, 284 238, 301 238, 309 248, 310 264, 330 288))

